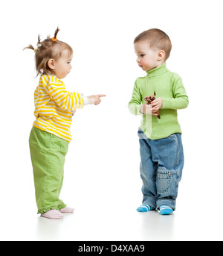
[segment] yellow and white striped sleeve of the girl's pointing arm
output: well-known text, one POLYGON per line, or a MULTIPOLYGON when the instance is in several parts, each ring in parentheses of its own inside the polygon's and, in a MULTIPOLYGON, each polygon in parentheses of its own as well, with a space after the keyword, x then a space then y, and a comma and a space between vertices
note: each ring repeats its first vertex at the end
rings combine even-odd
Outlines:
POLYGON ((75 110, 88 104, 88 99, 80 93, 69 92, 56 76, 42 75, 42 84, 48 95, 63 110, 75 110))

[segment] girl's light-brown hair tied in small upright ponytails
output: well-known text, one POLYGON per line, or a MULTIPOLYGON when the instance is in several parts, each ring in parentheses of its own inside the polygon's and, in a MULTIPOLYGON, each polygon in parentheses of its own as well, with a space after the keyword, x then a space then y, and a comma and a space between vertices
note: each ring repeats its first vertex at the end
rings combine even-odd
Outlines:
POLYGON ((39 74, 53 74, 54 71, 48 66, 48 60, 54 59, 58 60, 61 57, 62 51, 68 49, 68 54, 71 56, 73 54, 73 49, 67 43, 57 40, 56 36, 59 32, 59 28, 56 28, 54 37, 48 36, 47 39, 41 42, 38 36, 38 43, 36 49, 29 45, 24 49, 32 49, 35 52, 35 62, 36 62, 36 73, 39 74))

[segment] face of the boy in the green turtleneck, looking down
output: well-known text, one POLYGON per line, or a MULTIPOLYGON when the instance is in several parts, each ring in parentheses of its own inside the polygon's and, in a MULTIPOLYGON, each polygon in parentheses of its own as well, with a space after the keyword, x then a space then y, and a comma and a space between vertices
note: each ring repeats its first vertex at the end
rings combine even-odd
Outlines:
POLYGON ((164 63, 164 51, 151 49, 146 42, 135 43, 137 63, 144 71, 149 71, 161 66, 164 63))

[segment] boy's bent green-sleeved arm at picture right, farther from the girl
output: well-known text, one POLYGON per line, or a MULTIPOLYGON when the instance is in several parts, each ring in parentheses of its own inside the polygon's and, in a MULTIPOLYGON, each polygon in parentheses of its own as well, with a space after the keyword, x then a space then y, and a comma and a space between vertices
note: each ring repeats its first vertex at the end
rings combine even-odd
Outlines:
POLYGON ((183 109, 186 108, 189 104, 188 96, 184 85, 182 83, 182 79, 177 75, 175 77, 173 86, 172 86, 172 95, 174 99, 164 98, 163 99, 163 106, 161 109, 183 109))

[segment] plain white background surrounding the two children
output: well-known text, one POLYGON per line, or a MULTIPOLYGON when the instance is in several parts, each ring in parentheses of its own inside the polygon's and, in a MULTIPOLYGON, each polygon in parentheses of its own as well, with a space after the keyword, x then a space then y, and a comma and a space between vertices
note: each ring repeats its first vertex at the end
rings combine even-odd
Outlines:
POLYGON ((222 1, 1 1, 0 240, 223 240, 222 1), (28 137, 34 120, 37 36, 74 49, 68 90, 105 93, 74 115, 61 199, 62 220, 36 214, 28 137), (172 40, 167 68, 190 98, 178 111, 184 174, 171 216, 137 213, 138 126, 127 108, 138 68, 133 40, 160 28, 172 40))

